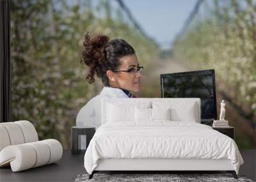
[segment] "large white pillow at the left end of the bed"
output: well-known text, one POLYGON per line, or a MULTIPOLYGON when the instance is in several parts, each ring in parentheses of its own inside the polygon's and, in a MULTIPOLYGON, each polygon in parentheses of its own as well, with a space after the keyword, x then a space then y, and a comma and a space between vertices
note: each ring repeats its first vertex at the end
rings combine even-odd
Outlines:
POLYGON ((119 106, 108 103, 107 109, 107 122, 118 121, 134 121, 135 120, 135 107, 134 106, 119 106))

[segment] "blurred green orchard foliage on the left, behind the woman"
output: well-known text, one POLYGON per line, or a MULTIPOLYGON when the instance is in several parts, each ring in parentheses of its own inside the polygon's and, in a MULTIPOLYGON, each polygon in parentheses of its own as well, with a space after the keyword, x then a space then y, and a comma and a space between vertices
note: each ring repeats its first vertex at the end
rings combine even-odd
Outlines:
POLYGON ((80 61, 86 31, 127 40, 146 68, 158 54, 156 43, 109 1, 100 1, 97 10, 90 0, 70 2, 11 1, 12 120, 31 121, 40 139, 58 139, 63 148, 70 148, 77 112, 102 89, 100 79, 85 82, 80 61))

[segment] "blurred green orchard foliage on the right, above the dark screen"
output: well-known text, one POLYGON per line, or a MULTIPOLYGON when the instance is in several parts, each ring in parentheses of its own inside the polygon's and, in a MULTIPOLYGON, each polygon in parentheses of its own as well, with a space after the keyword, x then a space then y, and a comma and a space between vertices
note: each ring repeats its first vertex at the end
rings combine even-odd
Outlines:
POLYGON ((212 13, 204 20, 195 19, 186 34, 176 40, 173 54, 193 68, 213 68, 218 91, 230 96, 255 121, 256 3, 214 2, 211 10, 205 10, 212 13))

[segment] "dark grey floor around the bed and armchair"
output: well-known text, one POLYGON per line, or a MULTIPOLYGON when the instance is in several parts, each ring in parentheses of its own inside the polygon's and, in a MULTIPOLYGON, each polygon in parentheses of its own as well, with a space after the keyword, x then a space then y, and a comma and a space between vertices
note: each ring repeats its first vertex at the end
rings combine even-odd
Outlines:
MULTIPOLYGON (((244 164, 241 165, 239 174, 256 181, 256 149, 241 150, 241 155, 244 164)), ((57 163, 21 172, 12 172, 10 167, 1 168, 0 181, 74 181, 78 174, 86 173, 83 161, 84 153, 72 155, 69 150, 65 150, 57 163)))

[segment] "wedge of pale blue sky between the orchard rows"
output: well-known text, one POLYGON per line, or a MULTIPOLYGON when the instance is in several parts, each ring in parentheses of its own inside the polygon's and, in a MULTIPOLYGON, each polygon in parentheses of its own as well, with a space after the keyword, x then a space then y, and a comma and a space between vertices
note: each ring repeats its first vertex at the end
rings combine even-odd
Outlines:
POLYGON ((197 0, 123 0, 144 31, 162 48, 170 46, 197 0))

